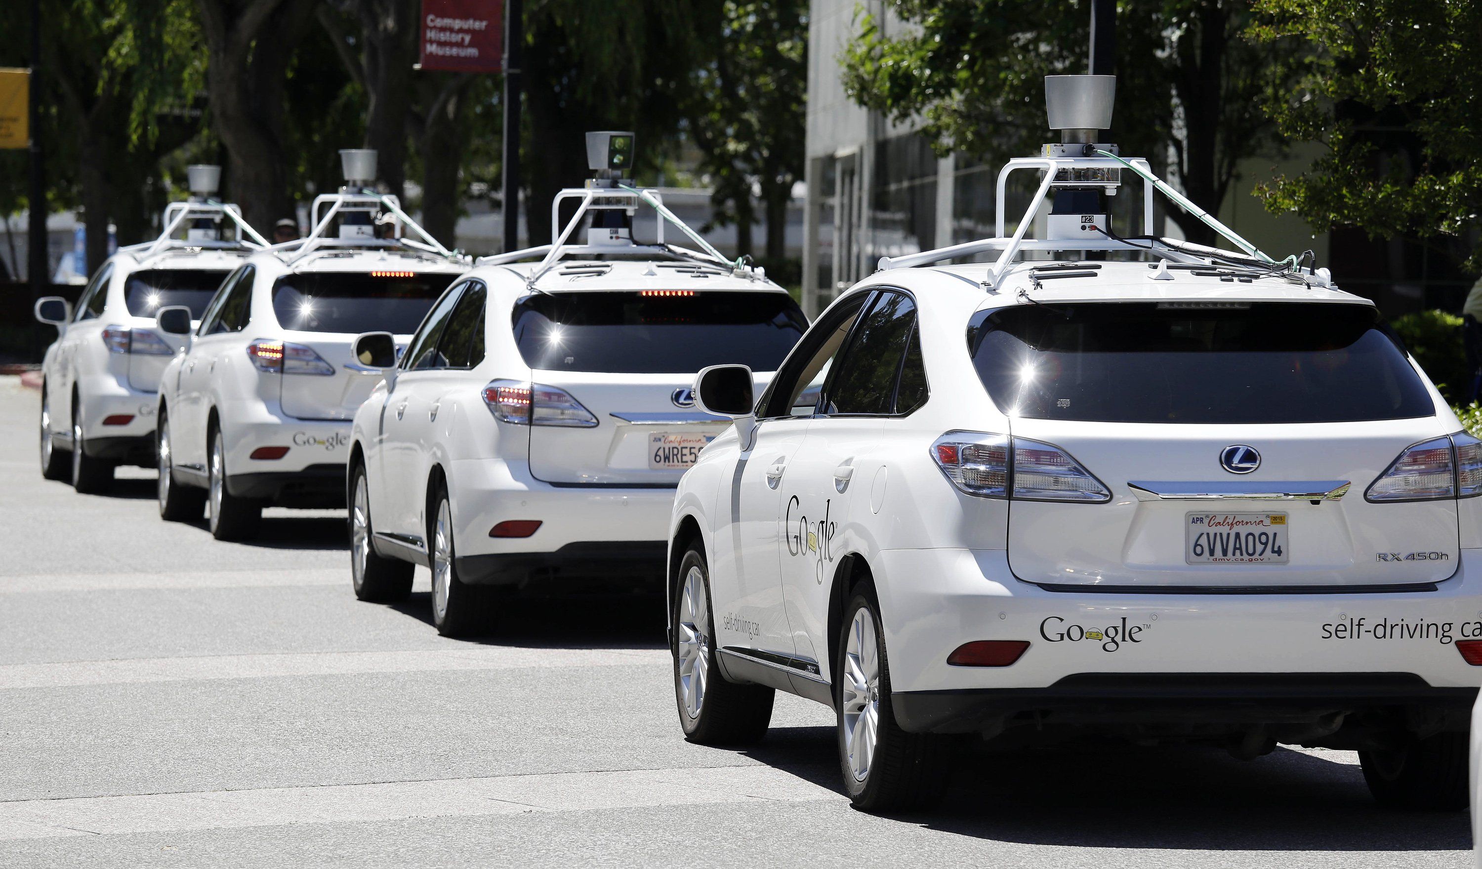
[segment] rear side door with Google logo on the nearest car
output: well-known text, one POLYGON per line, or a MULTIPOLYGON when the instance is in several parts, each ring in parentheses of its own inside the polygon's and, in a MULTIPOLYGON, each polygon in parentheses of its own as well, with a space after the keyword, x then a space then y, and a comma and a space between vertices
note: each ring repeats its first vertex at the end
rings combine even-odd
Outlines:
MULTIPOLYGON (((916 303, 879 292, 833 366, 808 435, 782 483, 782 601, 799 659, 828 675, 828 595, 846 530, 871 515, 876 477, 889 460, 888 426, 925 400, 916 303), (903 370, 907 391, 900 394, 903 370)), ((883 487, 883 480, 879 486, 883 487)), ((882 489, 883 496, 883 489, 882 489)))

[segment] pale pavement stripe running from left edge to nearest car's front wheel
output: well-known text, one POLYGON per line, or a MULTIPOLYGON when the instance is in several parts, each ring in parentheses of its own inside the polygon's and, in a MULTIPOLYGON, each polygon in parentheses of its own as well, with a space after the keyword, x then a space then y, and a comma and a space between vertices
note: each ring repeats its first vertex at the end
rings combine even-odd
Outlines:
POLYGON ((310 651, 289 654, 219 654, 207 657, 138 657, 70 660, 0 666, 0 691, 196 680, 252 680, 418 671, 491 671, 568 666, 662 665, 662 648, 437 648, 415 651, 310 651))

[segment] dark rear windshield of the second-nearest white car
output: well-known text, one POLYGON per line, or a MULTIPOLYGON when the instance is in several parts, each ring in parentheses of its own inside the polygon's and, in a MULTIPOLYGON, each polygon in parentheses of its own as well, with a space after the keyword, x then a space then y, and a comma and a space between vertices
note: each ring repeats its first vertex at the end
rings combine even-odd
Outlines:
POLYGON ((784 293, 553 293, 514 306, 525 363, 557 372, 691 373, 726 363, 775 372, 806 329, 784 293))

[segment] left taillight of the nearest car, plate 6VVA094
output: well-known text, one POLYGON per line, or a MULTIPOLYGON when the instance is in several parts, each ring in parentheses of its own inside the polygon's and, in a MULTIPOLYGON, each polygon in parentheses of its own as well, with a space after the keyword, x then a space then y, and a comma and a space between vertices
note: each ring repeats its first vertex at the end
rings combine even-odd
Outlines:
POLYGON ((1009 435, 950 431, 931 446, 951 484, 978 497, 1104 503, 1112 490, 1054 444, 1009 435))

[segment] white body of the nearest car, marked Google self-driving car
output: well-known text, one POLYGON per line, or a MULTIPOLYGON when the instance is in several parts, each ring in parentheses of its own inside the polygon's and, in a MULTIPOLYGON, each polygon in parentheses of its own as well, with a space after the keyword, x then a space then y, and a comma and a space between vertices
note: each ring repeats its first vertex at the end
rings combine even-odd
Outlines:
MULTIPOLYGON (((971 321, 1003 311, 1052 323, 1060 305, 1263 302, 1372 309, 1317 283, 1233 278, 1209 265, 1033 261, 876 272, 820 315, 762 395, 760 416, 740 417, 680 481, 671 600, 685 583, 680 558, 698 542, 708 561, 707 641, 726 680, 836 706, 842 607, 861 580, 873 582, 889 706, 906 733, 1012 740, 1091 728, 1254 756, 1276 742, 1372 751, 1402 731, 1464 731, 1482 669, 1457 642, 1482 637, 1482 500, 1366 499, 1408 447, 1461 432, 1414 360, 1424 407, 1402 419, 1095 422, 1074 419, 1071 398, 1021 413, 1014 401, 1023 409, 1023 397, 991 395, 968 342, 971 321), (769 409, 772 391, 790 388, 851 301, 877 290, 914 301, 926 400, 904 415, 831 415, 825 383, 818 409, 769 409), (1058 447, 1109 496, 969 494, 934 452, 950 432, 959 432, 953 443, 975 440, 960 432, 991 432, 999 444, 1012 437, 1017 462, 1043 454, 1021 438, 1058 447), (1264 460, 1227 472, 1221 454, 1232 446, 1254 446, 1264 460), (1286 563, 1189 563, 1196 512, 1280 514, 1286 563), (1027 648, 1006 666, 948 663, 978 641, 1027 648)), ((1240 373, 1211 382, 1211 403, 1251 404, 1240 373)), ((1020 376, 1027 391, 1045 372, 1020 376)), ((1160 388, 1156 373, 1146 382, 1160 388)))

